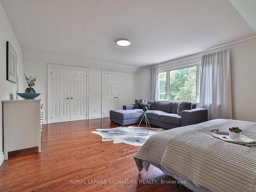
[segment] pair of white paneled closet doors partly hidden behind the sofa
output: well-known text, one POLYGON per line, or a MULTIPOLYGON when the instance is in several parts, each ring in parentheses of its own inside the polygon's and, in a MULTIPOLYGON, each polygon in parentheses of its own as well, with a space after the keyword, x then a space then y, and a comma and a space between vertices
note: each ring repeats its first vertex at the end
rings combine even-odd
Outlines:
POLYGON ((127 76, 104 73, 103 117, 109 117, 111 110, 122 110, 127 102, 127 76))

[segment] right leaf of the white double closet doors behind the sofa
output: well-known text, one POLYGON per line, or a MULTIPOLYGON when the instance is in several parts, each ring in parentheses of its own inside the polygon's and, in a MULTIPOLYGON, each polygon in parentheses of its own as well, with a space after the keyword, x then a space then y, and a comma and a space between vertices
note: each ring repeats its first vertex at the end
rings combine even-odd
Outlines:
POLYGON ((116 110, 122 110, 123 105, 127 102, 127 76, 116 75, 116 110))

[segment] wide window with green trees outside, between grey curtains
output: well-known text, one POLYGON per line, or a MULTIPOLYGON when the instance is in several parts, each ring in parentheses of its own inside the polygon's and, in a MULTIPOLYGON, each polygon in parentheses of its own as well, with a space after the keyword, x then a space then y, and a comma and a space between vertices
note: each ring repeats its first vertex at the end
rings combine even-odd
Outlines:
POLYGON ((158 100, 198 101, 199 65, 159 73, 158 100), (167 80, 168 79, 168 80, 167 80))

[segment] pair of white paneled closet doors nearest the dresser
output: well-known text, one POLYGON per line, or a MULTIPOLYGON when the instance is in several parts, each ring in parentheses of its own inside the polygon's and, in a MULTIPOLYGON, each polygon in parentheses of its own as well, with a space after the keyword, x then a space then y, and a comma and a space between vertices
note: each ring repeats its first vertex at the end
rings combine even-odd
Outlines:
POLYGON ((87 119, 87 71, 51 67, 49 123, 87 119))

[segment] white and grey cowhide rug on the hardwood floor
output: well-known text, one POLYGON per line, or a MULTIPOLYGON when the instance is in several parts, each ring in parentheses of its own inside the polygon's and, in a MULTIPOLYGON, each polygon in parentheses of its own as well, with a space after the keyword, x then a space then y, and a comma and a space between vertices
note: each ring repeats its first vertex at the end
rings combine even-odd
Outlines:
POLYGON ((126 143, 129 145, 142 146, 150 136, 165 131, 164 129, 146 127, 124 127, 119 126, 113 129, 96 129, 91 133, 100 135, 102 141, 114 141, 113 143, 126 143))

